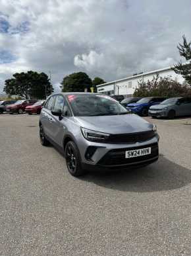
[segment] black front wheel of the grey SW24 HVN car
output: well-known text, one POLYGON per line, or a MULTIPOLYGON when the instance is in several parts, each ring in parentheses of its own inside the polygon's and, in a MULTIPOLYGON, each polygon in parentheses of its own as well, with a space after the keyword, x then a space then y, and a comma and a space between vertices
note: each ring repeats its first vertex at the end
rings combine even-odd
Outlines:
POLYGON ((82 169, 80 152, 76 144, 74 144, 72 141, 67 143, 65 148, 65 158, 68 171, 72 176, 78 177, 85 173, 85 171, 82 169))

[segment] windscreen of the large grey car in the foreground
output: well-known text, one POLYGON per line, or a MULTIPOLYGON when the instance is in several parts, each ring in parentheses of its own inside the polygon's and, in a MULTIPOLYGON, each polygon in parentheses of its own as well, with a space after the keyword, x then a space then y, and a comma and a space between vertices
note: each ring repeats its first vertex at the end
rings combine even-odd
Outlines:
POLYGON ((68 95, 74 116, 109 116, 127 114, 115 99, 106 95, 68 95))

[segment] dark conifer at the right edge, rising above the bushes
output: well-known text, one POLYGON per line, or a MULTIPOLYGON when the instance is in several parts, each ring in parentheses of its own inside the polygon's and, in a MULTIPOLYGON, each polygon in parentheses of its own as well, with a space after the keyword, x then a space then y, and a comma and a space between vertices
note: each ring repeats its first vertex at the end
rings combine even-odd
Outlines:
POLYGON ((179 62, 177 65, 174 65, 172 69, 182 75, 187 83, 191 86, 191 41, 187 42, 186 37, 183 35, 183 44, 178 44, 177 48, 180 53, 180 56, 183 56, 187 63, 182 64, 179 62))

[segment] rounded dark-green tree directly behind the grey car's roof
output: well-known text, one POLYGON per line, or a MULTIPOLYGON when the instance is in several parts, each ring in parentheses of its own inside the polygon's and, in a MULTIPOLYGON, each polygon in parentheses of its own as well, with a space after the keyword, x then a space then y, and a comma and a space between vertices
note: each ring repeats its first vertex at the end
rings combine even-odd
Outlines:
POLYGON ((63 92, 84 91, 84 89, 88 89, 88 91, 90 91, 90 87, 92 87, 92 80, 84 72, 67 75, 61 83, 61 89, 63 92))

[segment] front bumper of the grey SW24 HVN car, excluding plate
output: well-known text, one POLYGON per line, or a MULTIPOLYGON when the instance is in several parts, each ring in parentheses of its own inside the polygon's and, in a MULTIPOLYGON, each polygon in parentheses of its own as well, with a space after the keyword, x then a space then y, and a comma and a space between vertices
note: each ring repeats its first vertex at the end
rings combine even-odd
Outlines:
POLYGON ((82 166, 84 169, 119 169, 126 167, 142 167, 157 161, 159 157, 158 141, 159 136, 155 134, 150 140, 144 142, 136 142, 134 144, 102 144, 89 142, 81 138, 80 142, 80 156, 82 159, 82 166), (142 149, 151 147, 150 155, 143 155, 138 157, 125 158, 125 151, 142 149), (87 159, 88 149, 93 149, 94 153, 87 159))

